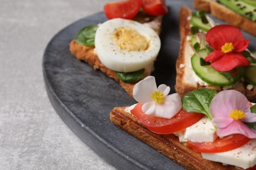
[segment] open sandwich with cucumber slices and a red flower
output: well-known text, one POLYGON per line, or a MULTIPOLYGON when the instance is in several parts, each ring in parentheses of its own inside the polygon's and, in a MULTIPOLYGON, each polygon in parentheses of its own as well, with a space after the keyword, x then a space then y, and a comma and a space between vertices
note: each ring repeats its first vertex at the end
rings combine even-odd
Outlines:
POLYGON ((180 12, 181 46, 175 90, 184 95, 198 88, 238 90, 256 102, 256 57, 242 32, 216 25, 203 11, 180 12))

